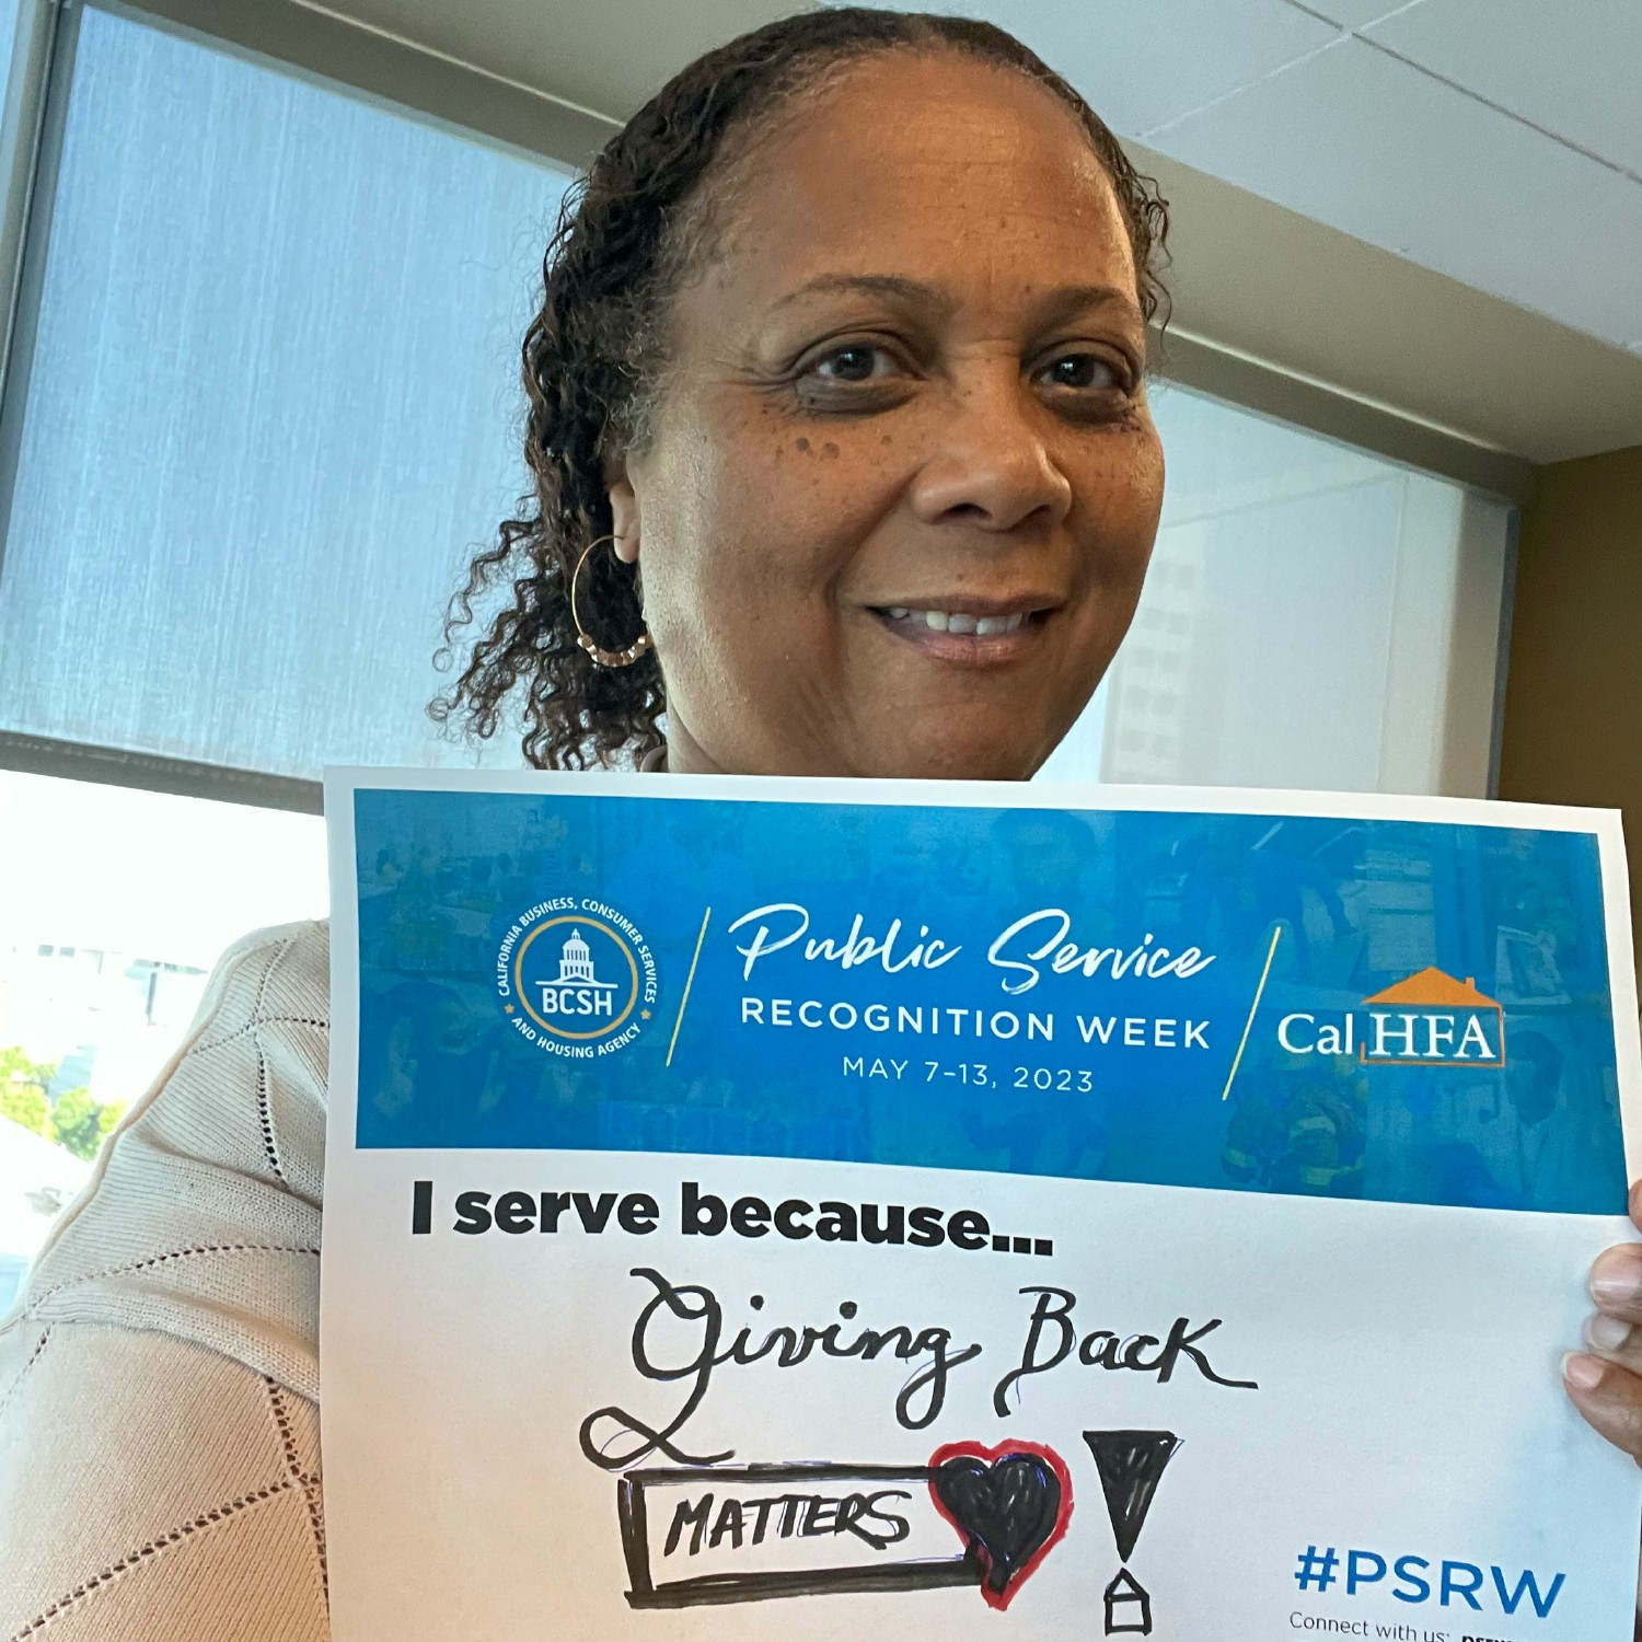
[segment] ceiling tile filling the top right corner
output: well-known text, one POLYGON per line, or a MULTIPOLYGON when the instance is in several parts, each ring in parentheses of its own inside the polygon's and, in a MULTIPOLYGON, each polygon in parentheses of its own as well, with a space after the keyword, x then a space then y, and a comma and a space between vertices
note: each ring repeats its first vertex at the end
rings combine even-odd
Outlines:
POLYGON ((1425 0, 1366 33, 1642 177, 1639 0, 1425 0))

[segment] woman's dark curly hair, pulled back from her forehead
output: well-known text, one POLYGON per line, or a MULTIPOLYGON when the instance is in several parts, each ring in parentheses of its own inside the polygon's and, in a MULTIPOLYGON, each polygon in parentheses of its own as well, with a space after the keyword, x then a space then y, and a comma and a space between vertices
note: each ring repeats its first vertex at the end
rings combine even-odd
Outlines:
MULTIPOLYGON (((1167 205, 1072 87, 990 23, 864 7, 805 11, 698 57, 668 80, 565 194, 542 264, 542 307, 524 338, 524 452, 534 494, 479 553, 450 601, 438 665, 452 665, 475 599, 511 580, 512 603, 475 637, 466 665, 429 713, 471 739, 496 734, 522 698, 524 757, 535 768, 586 768, 660 745, 662 670, 647 652, 599 667, 576 644, 570 578, 588 544, 611 532, 604 461, 644 448, 667 363, 672 299, 711 232, 713 184, 747 138, 806 92, 864 57, 956 51, 1028 76, 1072 110, 1112 179, 1128 225, 1148 320, 1166 317, 1167 205)), ((585 626, 616 649, 644 626, 637 566, 588 557, 576 586, 585 626)))

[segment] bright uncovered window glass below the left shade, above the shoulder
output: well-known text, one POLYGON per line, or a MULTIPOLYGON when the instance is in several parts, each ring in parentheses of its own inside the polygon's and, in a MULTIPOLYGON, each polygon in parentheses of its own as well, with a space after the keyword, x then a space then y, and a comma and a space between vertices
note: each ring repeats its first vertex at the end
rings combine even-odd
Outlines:
POLYGON ((223 947, 325 911, 317 816, 0 770, 0 1312, 223 947))

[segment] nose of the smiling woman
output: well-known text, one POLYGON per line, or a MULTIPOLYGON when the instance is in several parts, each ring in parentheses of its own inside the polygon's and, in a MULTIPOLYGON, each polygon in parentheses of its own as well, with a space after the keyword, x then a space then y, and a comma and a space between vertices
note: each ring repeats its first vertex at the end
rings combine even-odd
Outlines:
POLYGON ((1041 512, 1043 522, 1059 524, 1071 509, 1072 484, 1044 442, 1043 407, 1018 374, 1007 386, 965 386, 954 397, 911 489, 918 517, 1013 530, 1041 512))

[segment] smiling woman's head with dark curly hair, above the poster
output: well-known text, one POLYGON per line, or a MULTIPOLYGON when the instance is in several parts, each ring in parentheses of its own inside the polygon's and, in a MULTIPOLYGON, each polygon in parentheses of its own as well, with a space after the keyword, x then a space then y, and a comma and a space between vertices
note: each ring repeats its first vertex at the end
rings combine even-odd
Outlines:
POLYGON ((517 693, 548 767, 655 762, 665 709, 675 770, 1030 775, 1156 534, 1164 225, 990 25, 819 11, 703 57, 566 199, 539 494, 453 614, 516 603, 435 711, 489 736, 517 693))

